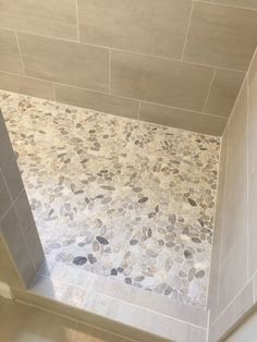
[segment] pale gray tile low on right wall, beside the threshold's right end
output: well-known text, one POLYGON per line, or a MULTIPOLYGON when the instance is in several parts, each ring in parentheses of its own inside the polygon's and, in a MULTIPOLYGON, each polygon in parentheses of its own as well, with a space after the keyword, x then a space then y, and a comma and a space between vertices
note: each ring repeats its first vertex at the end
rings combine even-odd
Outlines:
POLYGON ((220 269, 218 314, 236 296, 247 282, 247 234, 243 232, 220 269))

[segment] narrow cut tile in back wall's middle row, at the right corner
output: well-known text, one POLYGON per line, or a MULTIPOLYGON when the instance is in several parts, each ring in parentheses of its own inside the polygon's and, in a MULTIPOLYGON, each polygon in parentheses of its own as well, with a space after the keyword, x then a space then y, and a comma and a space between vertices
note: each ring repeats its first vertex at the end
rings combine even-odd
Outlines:
POLYGON ((205 112, 228 118, 244 81, 245 74, 235 71, 217 70, 205 112))

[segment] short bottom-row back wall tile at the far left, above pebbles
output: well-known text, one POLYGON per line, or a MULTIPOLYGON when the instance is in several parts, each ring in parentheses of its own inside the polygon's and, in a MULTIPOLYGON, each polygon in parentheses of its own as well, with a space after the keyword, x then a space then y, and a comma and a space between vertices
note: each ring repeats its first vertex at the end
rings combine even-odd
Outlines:
POLYGON ((48 100, 54 99, 51 83, 42 80, 35 80, 0 72, 0 88, 9 91, 41 97, 48 100))

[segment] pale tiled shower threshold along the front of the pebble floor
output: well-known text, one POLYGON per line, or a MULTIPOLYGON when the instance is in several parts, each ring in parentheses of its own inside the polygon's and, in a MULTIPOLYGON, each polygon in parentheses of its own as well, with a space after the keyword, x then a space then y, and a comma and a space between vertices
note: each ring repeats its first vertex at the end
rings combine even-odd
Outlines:
POLYGON ((13 292, 16 301, 136 341, 206 340, 205 308, 68 265, 46 261, 28 291, 13 292))

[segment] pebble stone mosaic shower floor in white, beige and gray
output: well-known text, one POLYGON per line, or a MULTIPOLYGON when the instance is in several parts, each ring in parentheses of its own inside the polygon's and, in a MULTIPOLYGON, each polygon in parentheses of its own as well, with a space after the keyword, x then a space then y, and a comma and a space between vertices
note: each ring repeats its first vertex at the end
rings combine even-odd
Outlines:
POLYGON ((0 91, 47 257, 206 305, 220 141, 0 91))

